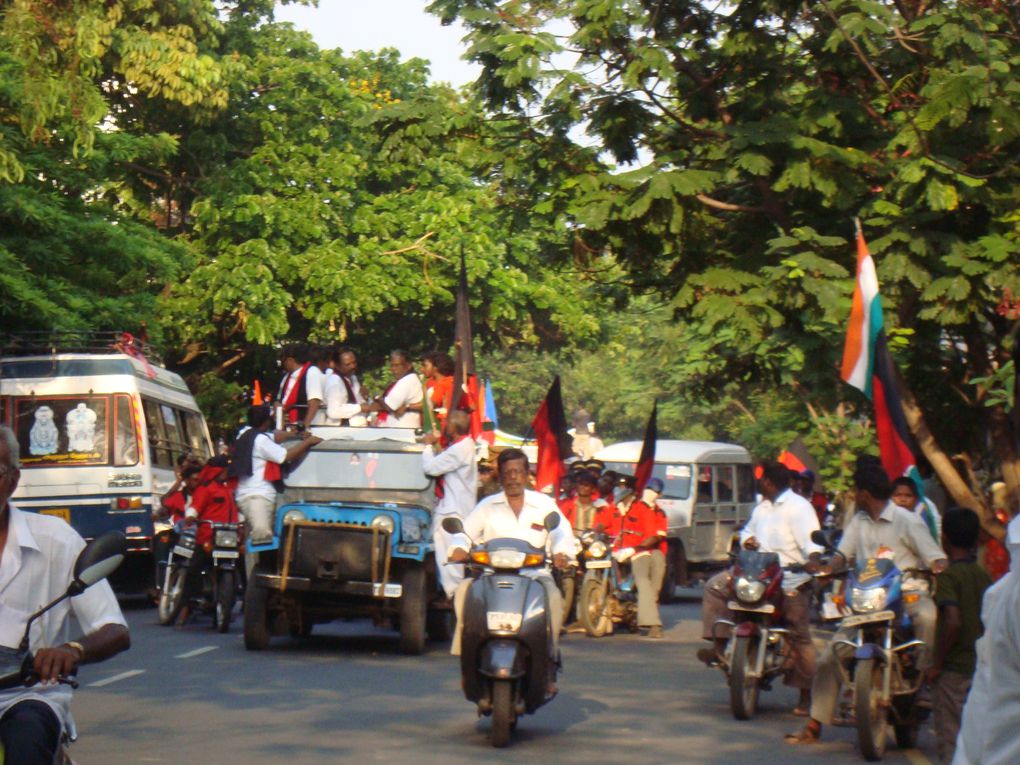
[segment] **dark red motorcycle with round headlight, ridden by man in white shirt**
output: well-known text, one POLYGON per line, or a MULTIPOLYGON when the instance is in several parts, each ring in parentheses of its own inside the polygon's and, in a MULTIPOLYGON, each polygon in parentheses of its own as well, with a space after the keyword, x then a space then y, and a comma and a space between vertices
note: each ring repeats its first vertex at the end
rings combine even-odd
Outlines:
POLYGON ((714 636, 720 626, 729 629, 719 666, 726 674, 729 709, 737 720, 754 717, 760 692, 771 690, 790 655, 789 630, 782 626, 784 570, 802 571, 803 566, 783 569, 775 553, 741 550, 730 570, 726 604, 733 619, 719 619, 712 627, 714 636))

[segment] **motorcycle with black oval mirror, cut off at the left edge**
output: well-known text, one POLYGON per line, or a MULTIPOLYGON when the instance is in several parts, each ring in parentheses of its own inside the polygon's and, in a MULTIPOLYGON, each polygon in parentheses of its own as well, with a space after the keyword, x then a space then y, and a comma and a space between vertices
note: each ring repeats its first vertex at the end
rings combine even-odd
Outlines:
MULTIPOLYGON (((85 546, 74 561, 73 578, 64 594, 29 617, 21 642, 16 649, 0 647, 0 691, 21 686, 32 687, 39 682, 39 675, 35 669, 35 655, 29 649, 29 632, 33 622, 61 601, 81 595, 86 589, 113 573, 123 561, 126 550, 128 541, 120 531, 109 531, 85 546)), ((72 688, 78 687, 78 679, 74 676, 60 676, 57 679, 72 688)), ((54 765, 71 764, 67 748, 76 737, 72 728, 63 731, 54 765)), ((3 747, 0 746, 0 763, 4 761, 3 754, 3 747)))

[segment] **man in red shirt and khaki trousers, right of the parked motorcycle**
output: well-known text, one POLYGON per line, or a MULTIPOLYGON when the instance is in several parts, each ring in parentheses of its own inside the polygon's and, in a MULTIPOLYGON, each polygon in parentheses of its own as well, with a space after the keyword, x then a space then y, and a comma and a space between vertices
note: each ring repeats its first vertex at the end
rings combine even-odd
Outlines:
POLYGON ((659 591, 666 575, 666 515, 656 504, 662 489, 662 480, 649 479, 641 499, 623 510, 616 542, 617 560, 630 562, 638 588, 638 626, 653 640, 663 636, 659 591))

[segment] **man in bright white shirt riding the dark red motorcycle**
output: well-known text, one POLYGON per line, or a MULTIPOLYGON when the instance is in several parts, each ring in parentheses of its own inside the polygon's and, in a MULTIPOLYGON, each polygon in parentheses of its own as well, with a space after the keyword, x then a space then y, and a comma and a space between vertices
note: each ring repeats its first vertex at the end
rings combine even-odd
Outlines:
MULTIPOLYGON (((741 545, 747 550, 775 553, 783 567, 807 565, 817 561, 822 548, 811 541, 811 533, 818 530, 818 515, 804 497, 789 488, 789 469, 780 462, 766 462, 762 465, 759 488, 762 502, 751 513, 751 519, 741 531, 741 545)), ((811 582, 808 573, 782 574, 784 626, 789 629, 794 666, 786 673, 784 682, 798 688, 801 698, 794 714, 807 715, 811 706, 811 683, 815 675, 817 652, 811 640, 809 613, 810 596, 804 592, 811 582)), ((716 641, 714 649, 701 649, 698 657, 706 663, 716 663, 718 655, 725 648, 725 638, 720 631, 714 635, 713 625, 718 619, 732 619, 726 608, 729 598, 730 575, 728 572, 716 574, 705 585, 702 600, 702 636, 716 641)))

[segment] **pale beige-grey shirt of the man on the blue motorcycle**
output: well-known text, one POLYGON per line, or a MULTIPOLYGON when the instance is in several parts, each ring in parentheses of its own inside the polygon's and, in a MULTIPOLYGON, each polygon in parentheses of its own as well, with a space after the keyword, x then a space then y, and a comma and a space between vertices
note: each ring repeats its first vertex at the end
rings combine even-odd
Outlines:
MULTIPOLYGON (((872 520, 867 511, 858 510, 839 541, 839 552, 858 562, 873 558, 880 547, 892 551, 892 562, 904 572, 908 568, 930 568, 936 560, 946 557, 931 539, 931 531, 920 514, 905 510, 891 501, 878 520, 872 520)), ((927 584, 923 579, 908 578, 904 573, 903 589, 925 591, 927 584)))

